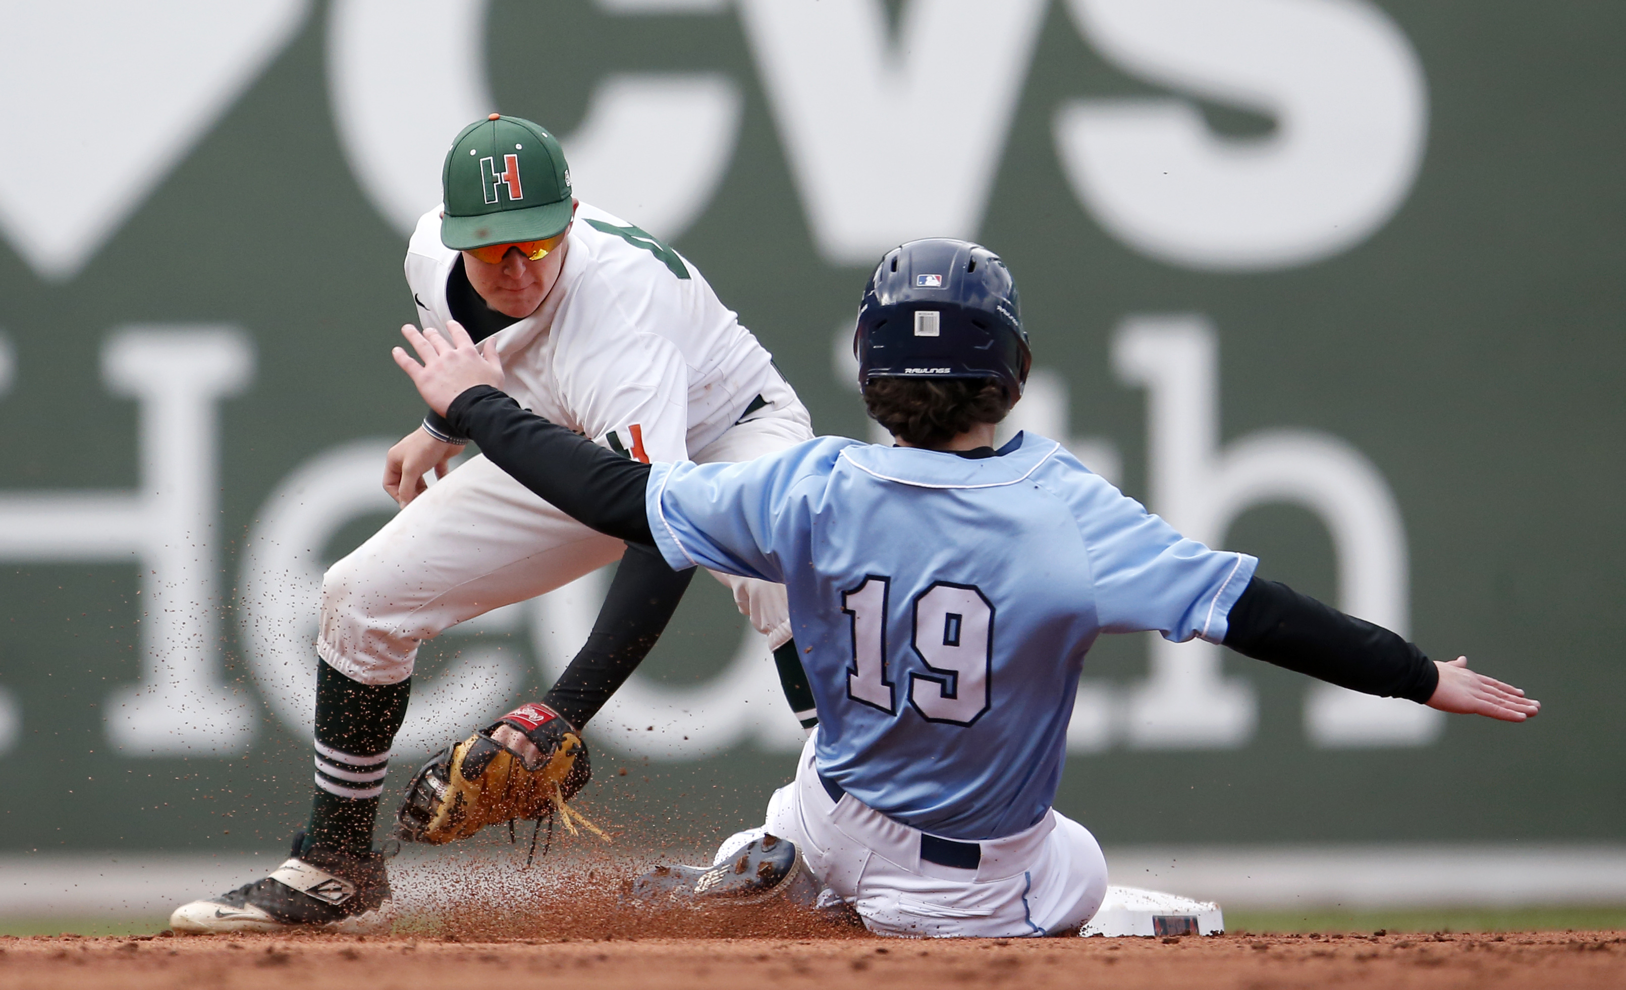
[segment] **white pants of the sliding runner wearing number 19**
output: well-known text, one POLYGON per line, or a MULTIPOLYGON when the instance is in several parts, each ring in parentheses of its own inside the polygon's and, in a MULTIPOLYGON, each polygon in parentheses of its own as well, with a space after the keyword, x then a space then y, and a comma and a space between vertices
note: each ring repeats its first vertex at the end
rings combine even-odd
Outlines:
POLYGON ((976 870, 920 858, 919 829, 850 793, 833 801, 802 749, 797 779, 774 792, 766 829, 795 842, 813 875, 876 935, 1015 938, 1076 933, 1107 891, 1096 837, 1055 810, 1039 824, 979 842, 976 870))

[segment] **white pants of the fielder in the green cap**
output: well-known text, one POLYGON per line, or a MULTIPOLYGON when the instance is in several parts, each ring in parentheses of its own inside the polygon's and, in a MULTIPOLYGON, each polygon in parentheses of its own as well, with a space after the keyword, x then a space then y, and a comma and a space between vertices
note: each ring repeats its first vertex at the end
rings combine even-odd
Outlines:
MULTIPOLYGON (((763 395, 767 408, 694 460, 751 460, 813 439, 806 408, 789 385, 776 382, 763 395)), ((473 457, 327 571, 317 653, 363 684, 400 683, 411 676, 421 640, 566 585, 624 549, 473 457)), ((772 649, 790 639, 784 585, 714 575, 772 649)))

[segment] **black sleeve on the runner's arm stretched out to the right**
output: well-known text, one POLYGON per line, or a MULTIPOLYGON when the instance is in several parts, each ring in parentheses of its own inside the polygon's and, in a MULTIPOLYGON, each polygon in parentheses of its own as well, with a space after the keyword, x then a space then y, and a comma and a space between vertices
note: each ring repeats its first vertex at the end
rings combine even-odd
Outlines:
POLYGON ((1428 704, 1439 670, 1415 644, 1285 584, 1247 582, 1231 606, 1224 645, 1364 694, 1428 704))

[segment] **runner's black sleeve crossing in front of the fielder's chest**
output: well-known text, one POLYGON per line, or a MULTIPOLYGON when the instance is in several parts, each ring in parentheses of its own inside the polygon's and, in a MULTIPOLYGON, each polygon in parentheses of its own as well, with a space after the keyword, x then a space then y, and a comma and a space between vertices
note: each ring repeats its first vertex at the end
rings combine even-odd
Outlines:
POLYGON ((460 393, 446 418, 491 463, 566 515, 628 543, 655 543, 644 512, 647 463, 525 411, 491 385, 460 393))

